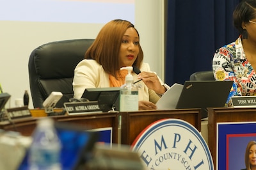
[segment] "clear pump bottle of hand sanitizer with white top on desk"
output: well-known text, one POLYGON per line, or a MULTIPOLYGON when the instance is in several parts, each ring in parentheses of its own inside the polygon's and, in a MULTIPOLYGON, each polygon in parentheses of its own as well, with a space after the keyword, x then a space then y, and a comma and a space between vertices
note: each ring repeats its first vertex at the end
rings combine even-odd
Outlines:
POLYGON ((120 111, 138 111, 139 110, 139 92, 138 86, 133 84, 131 75, 132 66, 120 68, 120 70, 128 70, 125 77, 125 84, 120 89, 120 111))

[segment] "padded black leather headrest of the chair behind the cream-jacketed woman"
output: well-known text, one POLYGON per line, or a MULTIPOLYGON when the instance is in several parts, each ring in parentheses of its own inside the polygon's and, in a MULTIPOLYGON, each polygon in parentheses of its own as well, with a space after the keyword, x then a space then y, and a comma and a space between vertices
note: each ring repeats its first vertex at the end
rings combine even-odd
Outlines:
POLYGON ((74 68, 84 59, 92 39, 65 40, 41 45, 33 50, 36 74, 41 79, 74 77, 74 68))

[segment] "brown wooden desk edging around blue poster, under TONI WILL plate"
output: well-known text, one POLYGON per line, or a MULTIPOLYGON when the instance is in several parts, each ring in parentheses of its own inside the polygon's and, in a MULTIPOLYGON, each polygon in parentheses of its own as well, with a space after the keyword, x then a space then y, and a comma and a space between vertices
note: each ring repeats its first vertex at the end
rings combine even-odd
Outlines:
POLYGON ((216 169, 216 125, 219 122, 256 121, 256 108, 208 108, 208 144, 216 169))

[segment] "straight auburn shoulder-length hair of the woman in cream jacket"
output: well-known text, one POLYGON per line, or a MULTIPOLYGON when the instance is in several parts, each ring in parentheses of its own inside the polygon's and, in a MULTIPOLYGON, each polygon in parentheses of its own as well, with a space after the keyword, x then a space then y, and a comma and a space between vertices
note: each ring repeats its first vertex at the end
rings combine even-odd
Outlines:
MULTIPOLYGON (((92 43, 91 47, 86 51, 86 59, 95 59, 104 71, 116 77, 116 72, 120 70, 119 50, 122 43, 122 38, 125 31, 134 25, 127 20, 111 20, 102 27, 97 38, 92 43)), ((134 28, 135 29, 135 28, 134 28)), ((136 30, 136 29, 135 29, 136 30)), ((136 30, 138 33, 138 31, 136 30)), ((140 35, 138 33, 140 38, 140 35)), ((139 43, 138 56, 132 66, 140 68, 143 61, 143 51, 139 43)))

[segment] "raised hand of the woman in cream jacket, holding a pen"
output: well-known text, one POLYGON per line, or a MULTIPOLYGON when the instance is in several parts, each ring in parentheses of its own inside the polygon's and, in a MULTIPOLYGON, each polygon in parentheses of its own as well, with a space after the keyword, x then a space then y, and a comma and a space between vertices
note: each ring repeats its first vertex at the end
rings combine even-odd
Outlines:
POLYGON ((161 85, 157 74, 154 72, 141 72, 138 75, 138 79, 142 79, 148 88, 153 89, 158 94, 162 94, 166 91, 164 86, 161 85))

